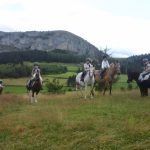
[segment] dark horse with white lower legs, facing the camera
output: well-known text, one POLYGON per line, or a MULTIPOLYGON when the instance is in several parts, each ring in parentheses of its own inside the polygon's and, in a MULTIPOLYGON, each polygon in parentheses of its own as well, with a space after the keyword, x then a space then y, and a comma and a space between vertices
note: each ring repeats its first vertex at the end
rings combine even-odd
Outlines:
POLYGON ((37 98, 36 96, 38 95, 38 93, 40 92, 40 90, 42 89, 42 85, 41 85, 41 81, 40 81, 40 76, 39 73, 36 73, 35 75, 35 79, 32 81, 31 86, 29 86, 29 84, 26 85, 27 91, 28 93, 31 91, 32 95, 30 96, 30 100, 31 103, 37 102, 37 98), (36 94, 36 95, 35 95, 36 94))

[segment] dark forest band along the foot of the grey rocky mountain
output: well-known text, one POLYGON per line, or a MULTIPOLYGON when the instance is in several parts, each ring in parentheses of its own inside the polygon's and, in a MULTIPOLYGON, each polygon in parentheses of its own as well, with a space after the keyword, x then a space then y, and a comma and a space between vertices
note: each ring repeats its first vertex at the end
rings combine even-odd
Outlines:
POLYGON ((67 52, 66 50, 56 50, 56 52, 39 51, 39 50, 25 50, 25 51, 22 50, 22 51, 11 51, 0 53, 0 63, 16 64, 22 63, 23 61, 78 63, 84 60, 85 56, 80 56, 77 55, 76 53, 67 52))

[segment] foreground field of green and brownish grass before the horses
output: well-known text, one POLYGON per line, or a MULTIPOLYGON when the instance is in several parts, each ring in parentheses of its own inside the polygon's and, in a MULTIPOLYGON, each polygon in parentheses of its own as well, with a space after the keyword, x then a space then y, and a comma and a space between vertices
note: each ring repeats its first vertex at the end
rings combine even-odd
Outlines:
POLYGON ((149 150, 150 97, 138 90, 40 94, 30 104, 26 94, 0 96, 2 150, 149 150))

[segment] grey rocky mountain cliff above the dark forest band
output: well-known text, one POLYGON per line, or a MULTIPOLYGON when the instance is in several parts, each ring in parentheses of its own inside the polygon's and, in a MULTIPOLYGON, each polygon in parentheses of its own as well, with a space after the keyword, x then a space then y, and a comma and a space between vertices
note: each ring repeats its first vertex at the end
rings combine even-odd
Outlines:
POLYGON ((97 58, 103 55, 94 45, 67 31, 0 32, 0 52, 67 50, 97 58))

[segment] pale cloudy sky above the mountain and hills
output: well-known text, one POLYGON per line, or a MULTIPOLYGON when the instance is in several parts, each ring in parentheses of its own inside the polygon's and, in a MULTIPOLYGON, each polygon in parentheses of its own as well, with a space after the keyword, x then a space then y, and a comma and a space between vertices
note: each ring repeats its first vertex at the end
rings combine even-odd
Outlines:
POLYGON ((54 30, 113 57, 150 53, 150 0, 0 0, 0 31, 54 30))

